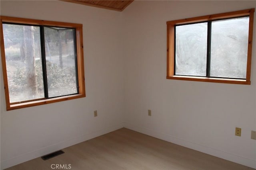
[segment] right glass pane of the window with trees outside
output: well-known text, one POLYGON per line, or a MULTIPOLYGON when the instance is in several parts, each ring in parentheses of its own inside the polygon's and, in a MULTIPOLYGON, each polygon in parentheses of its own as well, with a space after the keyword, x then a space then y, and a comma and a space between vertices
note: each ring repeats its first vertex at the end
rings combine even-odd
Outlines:
POLYGON ((44 27, 48 96, 77 94, 74 29, 44 27))

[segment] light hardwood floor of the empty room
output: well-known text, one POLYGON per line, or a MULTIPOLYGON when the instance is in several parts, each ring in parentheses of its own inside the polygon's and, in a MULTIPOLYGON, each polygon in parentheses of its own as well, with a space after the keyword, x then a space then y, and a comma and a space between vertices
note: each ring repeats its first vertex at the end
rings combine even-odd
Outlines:
POLYGON ((71 170, 254 170, 126 128, 62 150, 54 158, 36 158, 8 170, 51 170, 52 164, 70 164, 71 170))

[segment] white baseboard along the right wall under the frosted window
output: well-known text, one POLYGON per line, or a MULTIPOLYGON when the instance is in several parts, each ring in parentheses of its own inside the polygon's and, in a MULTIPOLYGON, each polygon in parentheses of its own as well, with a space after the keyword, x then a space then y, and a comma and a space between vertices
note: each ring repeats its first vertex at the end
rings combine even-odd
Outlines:
POLYGON ((156 137, 158 139, 162 139, 164 141, 168 141, 168 142, 171 142, 171 143, 183 146, 183 147, 194 149, 194 150, 206 153, 206 154, 210 154, 212 156, 216 156, 218 158, 229 160, 231 162, 236 162, 238 164, 242 164, 244 166, 249 166, 251 168, 256 169, 256 160, 252 160, 252 159, 245 158, 243 156, 239 156, 239 155, 236 155, 236 154, 224 152, 222 150, 213 149, 213 148, 210 148, 210 147, 206 147, 206 146, 203 146, 203 145, 192 143, 192 142, 189 142, 189 141, 186 141, 186 140, 183 140, 183 139, 179 139, 179 138, 173 137, 173 136, 168 135, 168 134, 153 131, 151 129, 147 129, 147 128, 144 128, 144 127, 133 126, 133 125, 130 125, 129 123, 124 123, 124 127, 127 128, 127 129, 131 129, 131 130, 134 130, 134 131, 152 136, 152 137, 156 137))

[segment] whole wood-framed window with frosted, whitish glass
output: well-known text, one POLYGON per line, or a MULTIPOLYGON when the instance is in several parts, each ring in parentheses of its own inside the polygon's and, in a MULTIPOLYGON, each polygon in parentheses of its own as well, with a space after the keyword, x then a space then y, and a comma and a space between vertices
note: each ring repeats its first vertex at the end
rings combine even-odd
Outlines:
POLYGON ((254 9, 167 21, 167 79, 250 84, 254 9))

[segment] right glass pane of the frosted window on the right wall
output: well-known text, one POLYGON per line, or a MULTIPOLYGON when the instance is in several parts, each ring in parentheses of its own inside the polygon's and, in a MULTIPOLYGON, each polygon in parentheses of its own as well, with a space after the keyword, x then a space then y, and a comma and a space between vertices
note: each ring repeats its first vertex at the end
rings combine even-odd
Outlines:
POLYGON ((249 17, 212 21, 210 76, 246 78, 249 17))

